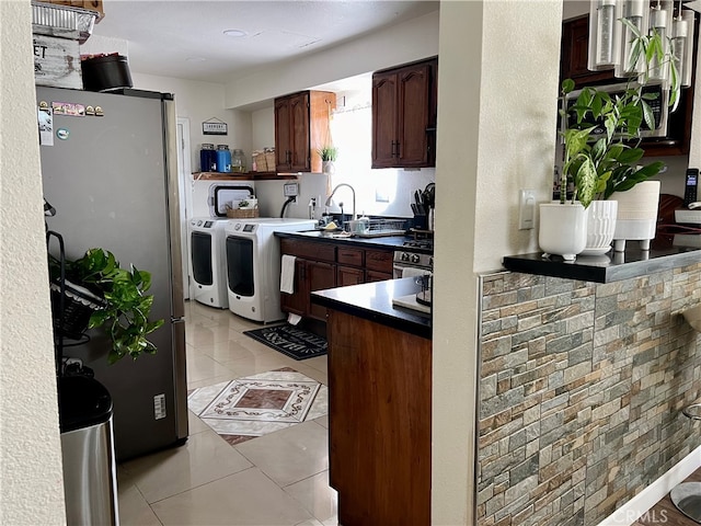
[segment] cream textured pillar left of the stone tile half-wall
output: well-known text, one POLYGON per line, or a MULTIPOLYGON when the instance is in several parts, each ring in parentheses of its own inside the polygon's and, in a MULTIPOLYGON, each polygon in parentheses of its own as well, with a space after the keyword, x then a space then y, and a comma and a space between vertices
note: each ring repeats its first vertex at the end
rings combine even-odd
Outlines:
POLYGON ((433 338, 433 524, 474 524, 478 277, 536 249, 518 188, 552 181, 562 3, 441 2, 433 338))

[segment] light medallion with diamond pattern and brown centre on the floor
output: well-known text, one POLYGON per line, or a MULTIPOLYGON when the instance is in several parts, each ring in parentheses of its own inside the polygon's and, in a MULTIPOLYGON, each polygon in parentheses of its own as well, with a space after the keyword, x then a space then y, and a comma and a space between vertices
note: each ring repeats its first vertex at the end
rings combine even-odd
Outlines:
POLYGON ((285 367, 194 389, 187 408, 232 446, 329 412, 329 389, 285 367))

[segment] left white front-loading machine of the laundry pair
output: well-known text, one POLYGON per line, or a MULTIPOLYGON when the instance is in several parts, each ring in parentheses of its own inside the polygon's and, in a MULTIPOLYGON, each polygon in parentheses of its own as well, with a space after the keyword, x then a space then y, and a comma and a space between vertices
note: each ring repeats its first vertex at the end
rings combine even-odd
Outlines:
POLYGON ((194 299, 200 304, 226 309, 227 239, 226 217, 194 217, 189 220, 189 264, 194 299))

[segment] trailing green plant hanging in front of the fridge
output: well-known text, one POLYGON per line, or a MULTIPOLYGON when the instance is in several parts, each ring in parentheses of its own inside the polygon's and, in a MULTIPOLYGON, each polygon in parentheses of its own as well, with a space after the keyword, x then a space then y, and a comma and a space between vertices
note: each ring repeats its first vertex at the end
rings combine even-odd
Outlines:
MULTIPOLYGON (((49 271, 51 279, 57 279, 60 263, 51 255, 49 271)), ((134 265, 122 268, 112 252, 89 249, 82 258, 66 261, 66 278, 105 299, 104 308, 90 317, 88 328, 102 327, 112 341, 107 363, 114 364, 126 355, 136 359, 142 353, 156 353, 156 345, 147 336, 164 320, 149 321, 153 305, 153 296, 145 294, 151 286, 149 272, 134 265)))

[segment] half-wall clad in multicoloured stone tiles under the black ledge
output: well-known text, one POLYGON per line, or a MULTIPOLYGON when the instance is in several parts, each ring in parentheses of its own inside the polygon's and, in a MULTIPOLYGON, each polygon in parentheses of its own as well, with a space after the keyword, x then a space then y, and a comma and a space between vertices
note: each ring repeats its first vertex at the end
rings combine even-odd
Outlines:
POLYGON ((482 283, 480 526, 597 525, 701 444, 701 264, 482 283))

